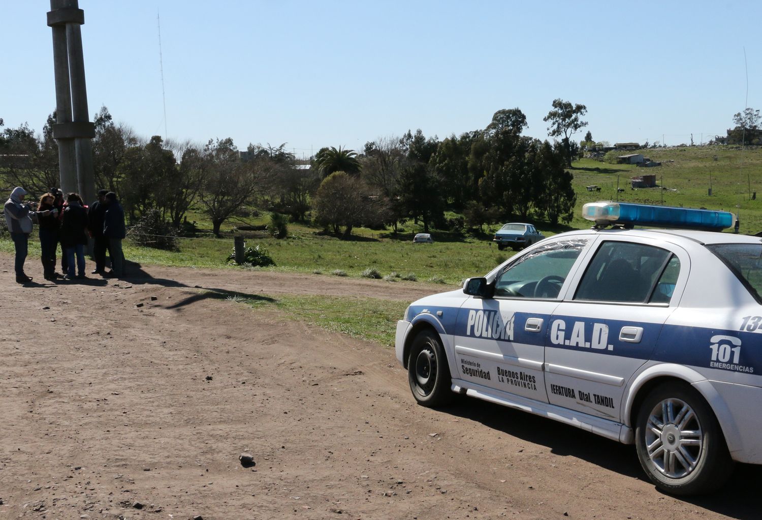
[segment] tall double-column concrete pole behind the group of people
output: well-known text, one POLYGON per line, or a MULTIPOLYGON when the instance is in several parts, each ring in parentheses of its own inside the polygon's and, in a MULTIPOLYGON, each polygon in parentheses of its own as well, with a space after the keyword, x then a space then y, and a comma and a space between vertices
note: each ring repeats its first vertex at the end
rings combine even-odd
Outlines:
POLYGON ((95 200, 95 177, 90 140, 95 125, 88 114, 82 31, 85 11, 78 0, 50 0, 47 24, 53 28, 53 70, 56 77, 56 124, 61 189, 77 191, 85 204, 95 200))

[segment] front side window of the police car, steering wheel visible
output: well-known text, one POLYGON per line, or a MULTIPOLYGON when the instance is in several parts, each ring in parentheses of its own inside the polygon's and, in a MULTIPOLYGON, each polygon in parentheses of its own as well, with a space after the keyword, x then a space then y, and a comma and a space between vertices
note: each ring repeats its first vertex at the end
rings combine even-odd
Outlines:
POLYGON ((495 297, 555 298, 587 240, 553 242, 498 274, 495 297))

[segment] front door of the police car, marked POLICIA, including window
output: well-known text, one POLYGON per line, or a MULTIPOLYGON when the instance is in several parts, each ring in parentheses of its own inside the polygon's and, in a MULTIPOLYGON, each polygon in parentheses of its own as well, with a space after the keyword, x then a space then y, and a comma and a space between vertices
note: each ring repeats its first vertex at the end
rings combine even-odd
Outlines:
POLYGON ((472 297, 455 328, 459 377, 547 402, 543 377, 548 320, 588 241, 559 240, 515 257, 498 271, 494 297, 472 297))

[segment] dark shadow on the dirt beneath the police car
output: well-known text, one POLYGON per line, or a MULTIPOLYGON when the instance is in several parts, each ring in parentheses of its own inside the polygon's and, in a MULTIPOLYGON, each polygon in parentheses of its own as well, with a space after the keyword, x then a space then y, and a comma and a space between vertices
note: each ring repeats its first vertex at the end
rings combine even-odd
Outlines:
MULTIPOLYGON (((623 445, 573 426, 550 422, 544 417, 466 397, 459 398, 443 411, 481 422, 488 428, 524 441, 546 446, 552 454, 577 457, 626 477, 647 480, 632 445, 623 445)), ((758 520, 760 482, 762 466, 736 464, 731 479, 717 493, 674 498, 730 518, 758 520)))

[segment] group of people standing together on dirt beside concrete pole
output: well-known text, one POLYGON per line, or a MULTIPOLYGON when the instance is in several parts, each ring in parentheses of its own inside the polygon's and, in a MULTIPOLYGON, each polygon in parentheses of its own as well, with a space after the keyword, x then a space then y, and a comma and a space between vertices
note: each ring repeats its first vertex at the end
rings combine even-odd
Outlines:
POLYGON ((44 278, 55 281, 85 278, 85 246, 88 234, 93 239, 95 269, 91 274, 121 278, 124 274, 122 240, 126 236, 124 210, 113 191, 98 191, 98 201, 88 207, 76 193, 69 193, 64 200, 63 192, 56 188, 43 194, 37 208, 24 202, 27 191, 16 187, 5 202, 5 223, 13 239, 16 258, 14 270, 16 282, 32 281, 24 273, 29 236, 34 222, 40 232, 41 260, 44 278), (61 244, 61 270, 56 272, 56 249, 61 244), (111 271, 106 271, 106 252, 111 260, 111 271))

